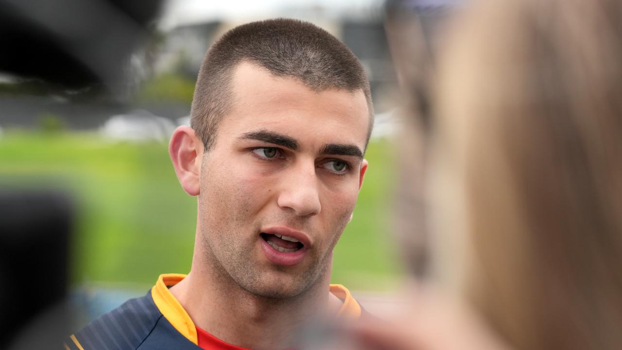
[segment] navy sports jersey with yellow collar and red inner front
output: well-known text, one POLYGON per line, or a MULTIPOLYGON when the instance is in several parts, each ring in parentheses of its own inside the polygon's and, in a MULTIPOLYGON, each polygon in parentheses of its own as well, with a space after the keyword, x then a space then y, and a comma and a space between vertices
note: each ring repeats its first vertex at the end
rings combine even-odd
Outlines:
MULTIPOLYGON (((213 349, 242 349, 201 329, 197 331, 188 313, 169 291, 170 286, 185 277, 177 273, 160 275, 146 295, 126 301, 65 339, 65 350, 201 350, 200 336, 203 342, 218 346, 213 349)), ((364 313, 343 285, 330 285, 330 292, 343 300, 339 317, 356 319, 364 313)))

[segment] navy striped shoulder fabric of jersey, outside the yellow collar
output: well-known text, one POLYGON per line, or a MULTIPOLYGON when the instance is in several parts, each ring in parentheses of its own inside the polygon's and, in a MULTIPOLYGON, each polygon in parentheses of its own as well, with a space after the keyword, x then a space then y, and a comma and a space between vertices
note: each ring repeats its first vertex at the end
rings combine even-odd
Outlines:
MULTIPOLYGON (((75 339, 84 350, 201 349, 162 316, 151 291, 94 319, 75 339)), ((65 339, 65 349, 80 350, 71 337, 65 339)))

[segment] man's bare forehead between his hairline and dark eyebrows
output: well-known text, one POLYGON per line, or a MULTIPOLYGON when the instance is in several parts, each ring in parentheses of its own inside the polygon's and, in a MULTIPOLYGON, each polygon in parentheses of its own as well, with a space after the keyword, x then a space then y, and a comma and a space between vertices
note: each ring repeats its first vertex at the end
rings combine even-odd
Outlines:
POLYGON ((363 146, 366 142, 369 111, 363 90, 313 91, 297 78, 275 77, 246 62, 238 65, 231 88, 234 103, 225 119, 241 124, 238 129, 246 129, 244 132, 277 128, 281 131, 274 131, 295 133, 304 128, 323 131, 317 135, 322 138, 332 127, 332 134, 339 139, 355 140, 363 146))

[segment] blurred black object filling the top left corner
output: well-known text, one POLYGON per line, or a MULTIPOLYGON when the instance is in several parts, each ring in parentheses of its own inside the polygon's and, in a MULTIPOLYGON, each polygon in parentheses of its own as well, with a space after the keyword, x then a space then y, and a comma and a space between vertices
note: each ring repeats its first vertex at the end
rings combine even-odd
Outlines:
POLYGON ((123 82, 162 0, 0 0, 0 72, 61 88, 123 82))

